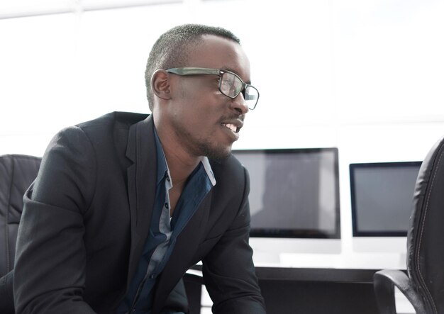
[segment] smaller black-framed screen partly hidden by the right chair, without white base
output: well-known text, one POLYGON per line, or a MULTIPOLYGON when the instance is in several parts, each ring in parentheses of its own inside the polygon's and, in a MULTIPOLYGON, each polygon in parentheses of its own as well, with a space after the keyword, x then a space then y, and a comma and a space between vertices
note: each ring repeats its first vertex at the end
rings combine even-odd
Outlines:
POLYGON ((421 162, 350 164, 354 237, 405 237, 421 162))

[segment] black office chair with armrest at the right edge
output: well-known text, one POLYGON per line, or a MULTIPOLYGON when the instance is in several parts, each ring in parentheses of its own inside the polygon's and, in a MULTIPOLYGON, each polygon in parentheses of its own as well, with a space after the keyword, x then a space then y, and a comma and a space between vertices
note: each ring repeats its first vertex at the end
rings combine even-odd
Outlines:
POLYGON ((419 170, 407 234, 407 271, 374 274, 379 313, 394 314, 394 286, 417 314, 444 313, 444 137, 419 170))

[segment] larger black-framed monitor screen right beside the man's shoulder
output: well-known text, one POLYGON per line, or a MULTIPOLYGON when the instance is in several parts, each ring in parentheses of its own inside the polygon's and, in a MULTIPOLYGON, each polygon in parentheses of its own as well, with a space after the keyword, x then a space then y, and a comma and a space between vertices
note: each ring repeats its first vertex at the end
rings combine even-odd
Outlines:
POLYGON ((233 155, 250 174, 251 237, 340 238, 337 148, 233 155))

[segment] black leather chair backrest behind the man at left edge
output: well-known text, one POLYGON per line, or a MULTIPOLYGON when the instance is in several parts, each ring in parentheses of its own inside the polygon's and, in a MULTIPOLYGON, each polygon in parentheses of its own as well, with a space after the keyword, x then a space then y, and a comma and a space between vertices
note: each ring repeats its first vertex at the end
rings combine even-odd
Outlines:
POLYGON ((13 269, 23 194, 34 181, 40 157, 0 156, 0 276, 13 269))

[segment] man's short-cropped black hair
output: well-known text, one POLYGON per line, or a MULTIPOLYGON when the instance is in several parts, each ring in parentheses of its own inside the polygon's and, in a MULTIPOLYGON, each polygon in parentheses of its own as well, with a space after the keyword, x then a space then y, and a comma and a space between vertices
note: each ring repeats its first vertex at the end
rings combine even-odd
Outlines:
POLYGON ((216 35, 240 44, 231 31, 225 28, 206 26, 201 24, 184 24, 167 30, 160 35, 152 46, 145 69, 145 85, 148 104, 152 111, 154 96, 151 91, 151 77, 157 69, 170 69, 172 67, 186 66, 190 48, 195 47, 202 35, 216 35))

